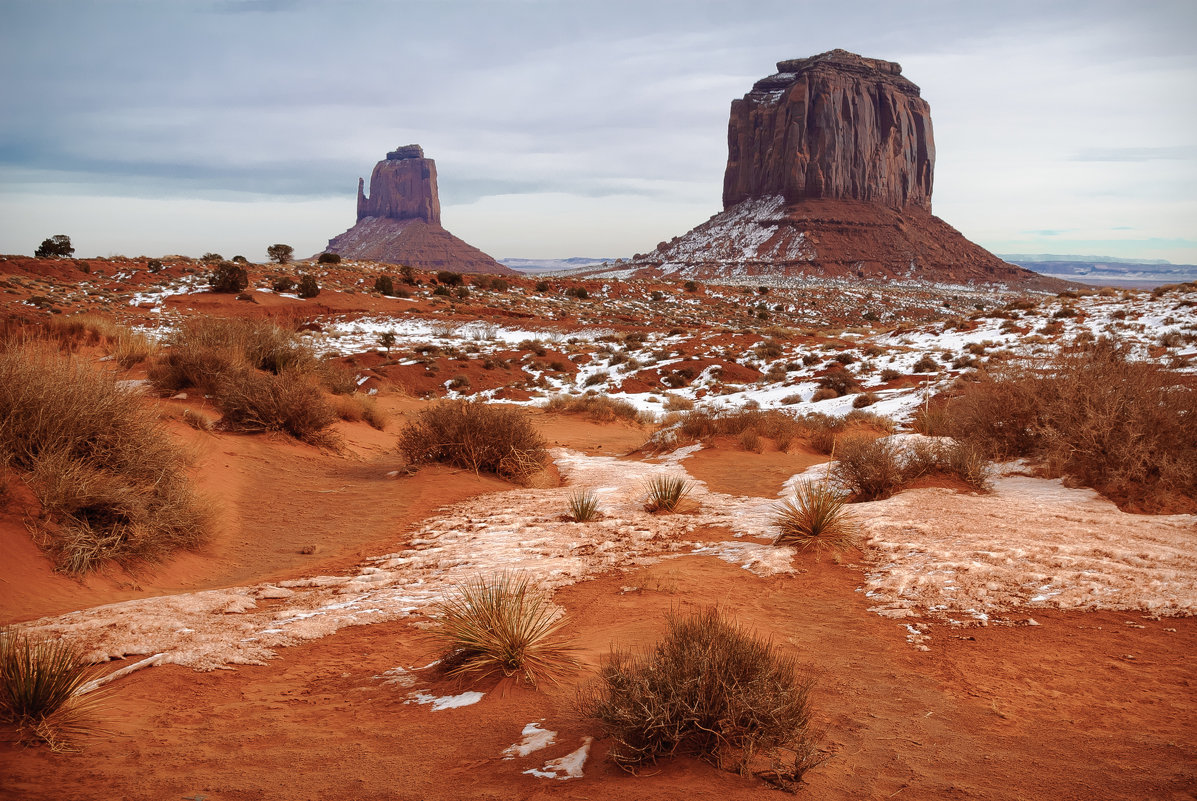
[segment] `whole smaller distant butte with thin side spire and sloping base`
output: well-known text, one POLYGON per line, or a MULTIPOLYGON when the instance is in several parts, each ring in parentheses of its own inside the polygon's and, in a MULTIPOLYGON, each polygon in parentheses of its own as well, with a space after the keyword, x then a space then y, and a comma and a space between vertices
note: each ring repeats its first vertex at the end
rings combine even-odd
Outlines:
POLYGON ((358 222, 326 250, 417 269, 517 274, 440 226, 437 165, 419 145, 396 147, 375 165, 369 198, 358 178, 358 222))

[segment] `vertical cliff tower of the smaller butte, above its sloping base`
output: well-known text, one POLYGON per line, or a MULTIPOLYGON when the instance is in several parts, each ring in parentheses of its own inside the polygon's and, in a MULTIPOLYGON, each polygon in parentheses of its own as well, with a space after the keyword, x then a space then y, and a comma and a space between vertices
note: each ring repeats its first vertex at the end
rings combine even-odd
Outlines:
POLYGON ((440 198, 437 195, 437 163, 424 158, 419 145, 406 145, 387 153, 370 174, 370 196, 358 178, 358 219, 385 217, 418 219, 440 225, 440 198))

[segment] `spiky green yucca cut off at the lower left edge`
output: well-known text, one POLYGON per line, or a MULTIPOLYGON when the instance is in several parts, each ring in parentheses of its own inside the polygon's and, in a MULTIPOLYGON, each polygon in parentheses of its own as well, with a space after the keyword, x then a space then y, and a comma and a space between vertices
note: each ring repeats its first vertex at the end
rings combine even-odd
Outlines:
POLYGON ((71 736, 92 730, 92 712, 104 703, 103 693, 81 693, 90 673, 68 641, 0 629, 0 718, 23 741, 68 750, 71 736))

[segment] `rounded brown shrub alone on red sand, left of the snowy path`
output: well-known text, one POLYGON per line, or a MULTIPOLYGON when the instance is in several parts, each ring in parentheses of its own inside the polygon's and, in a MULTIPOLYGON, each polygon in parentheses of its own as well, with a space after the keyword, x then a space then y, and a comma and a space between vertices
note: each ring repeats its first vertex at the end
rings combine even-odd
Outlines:
POLYGON ((425 408, 400 432, 399 449, 413 465, 444 462, 521 481, 548 460, 527 412, 473 400, 425 408))

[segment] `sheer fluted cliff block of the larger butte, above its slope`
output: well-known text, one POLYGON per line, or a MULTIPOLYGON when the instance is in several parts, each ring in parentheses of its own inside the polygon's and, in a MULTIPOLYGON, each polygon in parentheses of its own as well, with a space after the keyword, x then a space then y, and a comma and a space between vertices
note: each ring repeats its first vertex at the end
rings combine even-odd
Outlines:
POLYGON ((779 61, 733 101, 723 207, 782 195, 931 207, 931 110, 893 61, 832 50, 779 61))

